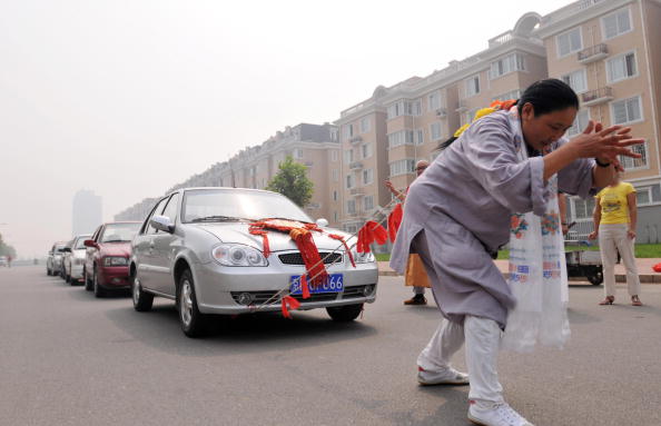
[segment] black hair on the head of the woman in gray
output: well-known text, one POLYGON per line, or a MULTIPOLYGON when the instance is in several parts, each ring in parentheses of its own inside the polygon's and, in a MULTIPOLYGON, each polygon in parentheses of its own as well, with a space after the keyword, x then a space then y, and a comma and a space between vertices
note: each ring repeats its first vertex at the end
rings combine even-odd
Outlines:
POLYGON ((579 97, 564 81, 550 78, 535 81, 525 89, 519 99, 519 113, 521 113, 525 103, 531 103, 535 117, 539 117, 570 107, 579 109, 579 97))

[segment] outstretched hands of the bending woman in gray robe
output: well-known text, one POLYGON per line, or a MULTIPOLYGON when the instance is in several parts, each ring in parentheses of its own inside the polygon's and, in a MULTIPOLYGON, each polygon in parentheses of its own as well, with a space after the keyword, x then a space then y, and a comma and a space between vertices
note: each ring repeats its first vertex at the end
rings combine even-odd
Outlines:
POLYGON ((568 146, 573 148, 578 157, 594 157, 601 162, 615 164, 615 167, 621 169, 618 156, 640 158, 640 153, 635 153, 627 147, 643 142, 643 139, 634 139, 631 136, 630 127, 611 126, 604 129, 600 122, 594 123, 590 120, 585 130, 572 138, 568 146))

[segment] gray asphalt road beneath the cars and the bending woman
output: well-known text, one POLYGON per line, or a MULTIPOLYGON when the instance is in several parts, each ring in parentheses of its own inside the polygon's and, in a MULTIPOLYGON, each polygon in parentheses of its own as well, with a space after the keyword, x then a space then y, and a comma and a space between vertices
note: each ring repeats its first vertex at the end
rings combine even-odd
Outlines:
MULTIPOLYGON (((468 425, 467 387, 415 380, 436 308, 403 306, 401 278, 379 285, 352 324, 259 315, 195 340, 170 301, 136 313, 43 267, 1 268, 0 425, 468 425)), ((564 350, 501 355, 506 399, 537 426, 661 425, 661 286, 642 308, 596 306, 602 291, 571 286, 564 350)))

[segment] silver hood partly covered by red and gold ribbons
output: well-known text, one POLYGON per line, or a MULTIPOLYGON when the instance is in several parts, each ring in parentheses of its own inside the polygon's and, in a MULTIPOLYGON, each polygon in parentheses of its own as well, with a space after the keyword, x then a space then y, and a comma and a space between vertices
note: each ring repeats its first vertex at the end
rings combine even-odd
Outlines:
MULTIPOLYGON (((251 235, 248 231, 248 224, 199 224, 193 226, 206 230, 207 232, 219 238, 223 242, 238 242, 246 246, 255 247, 259 250, 263 249, 262 236, 251 235)), ((313 239, 319 250, 344 250, 342 242, 331 238, 328 236, 329 234, 343 236, 351 247, 352 241, 348 240, 351 234, 341 231, 338 229, 324 228, 323 234, 313 231, 313 239)), ((292 240, 289 234, 280 232, 277 230, 268 231, 268 245, 272 251, 297 249, 296 244, 292 240)))

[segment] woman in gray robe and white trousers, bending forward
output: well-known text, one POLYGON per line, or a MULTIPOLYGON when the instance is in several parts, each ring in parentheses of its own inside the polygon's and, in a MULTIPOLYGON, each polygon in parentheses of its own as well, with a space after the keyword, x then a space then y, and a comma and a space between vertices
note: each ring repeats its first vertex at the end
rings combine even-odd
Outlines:
POLYGON ((542 215, 555 174, 561 191, 589 197, 621 168, 616 156, 637 157, 627 147, 641 142, 630 129, 593 122, 563 138, 579 100, 560 80, 533 83, 514 108, 473 122, 412 184, 391 255, 401 274, 408 254, 420 255, 445 318, 418 357, 418 382, 467 384, 450 364, 465 343, 468 418, 482 425, 531 425, 504 402, 496 374, 501 330, 516 300, 492 257, 510 240, 511 215, 542 215))

